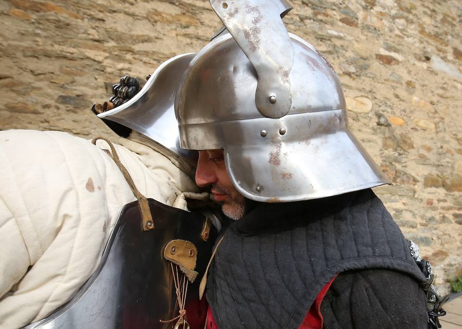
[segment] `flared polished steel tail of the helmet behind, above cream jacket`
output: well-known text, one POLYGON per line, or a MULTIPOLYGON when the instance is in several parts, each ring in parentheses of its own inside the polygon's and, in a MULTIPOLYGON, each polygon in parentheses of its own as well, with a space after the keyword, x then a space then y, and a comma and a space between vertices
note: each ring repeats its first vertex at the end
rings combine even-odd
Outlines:
POLYGON ((185 53, 162 63, 137 95, 98 117, 129 127, 196 165, 196 152, 180 148, 174 111, 175 94, 194 56, 185 53))

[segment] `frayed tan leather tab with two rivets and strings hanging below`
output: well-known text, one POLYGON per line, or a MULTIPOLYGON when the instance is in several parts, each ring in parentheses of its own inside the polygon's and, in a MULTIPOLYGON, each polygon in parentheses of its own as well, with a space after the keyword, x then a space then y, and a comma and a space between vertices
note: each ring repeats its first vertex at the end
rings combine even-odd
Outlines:
POLYGON ((190 282, 194 282, 198 275, 194 269, 197 261, 196 246, 186 240, 172 240, 165 246, 164 257, 170 262, 180 266, 190 282))

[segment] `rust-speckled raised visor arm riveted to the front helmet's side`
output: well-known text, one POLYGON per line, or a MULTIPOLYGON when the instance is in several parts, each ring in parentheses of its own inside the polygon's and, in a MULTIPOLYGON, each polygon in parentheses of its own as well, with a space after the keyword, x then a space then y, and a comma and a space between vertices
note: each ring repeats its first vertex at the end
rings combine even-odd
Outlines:
POLYGON ((286 115, 292 102, 289 74, 294 50, 281 16, 292 7, 281 0, 210 0, 210 4, 257 71, 258 110, 270 118, 286 115))

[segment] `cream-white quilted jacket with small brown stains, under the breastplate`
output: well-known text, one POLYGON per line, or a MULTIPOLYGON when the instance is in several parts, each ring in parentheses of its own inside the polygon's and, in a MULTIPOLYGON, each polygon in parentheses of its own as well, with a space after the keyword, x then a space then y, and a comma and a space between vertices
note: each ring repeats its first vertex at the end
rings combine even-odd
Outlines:
MULTIPOLYGON (((175 159, 117 143, 141 193, 186 209, 181 193, 197 186, 175 159)), ((97 268, 122 207, 136 200, 99 147, 63 132, 0 131, 0 328, 43 319, 68 301, 97 268)))

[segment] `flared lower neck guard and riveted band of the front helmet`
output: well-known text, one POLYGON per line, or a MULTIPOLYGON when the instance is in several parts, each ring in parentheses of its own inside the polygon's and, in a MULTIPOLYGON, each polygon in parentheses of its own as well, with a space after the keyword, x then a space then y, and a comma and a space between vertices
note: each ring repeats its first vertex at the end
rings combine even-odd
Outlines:
POLYGON ((222 122, 226 168, 239 193, 261 202, 290 202, 384 184, 386 177, 349 131, 346 112, 222 122))

